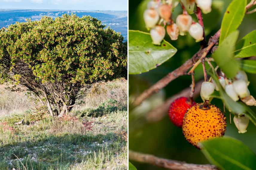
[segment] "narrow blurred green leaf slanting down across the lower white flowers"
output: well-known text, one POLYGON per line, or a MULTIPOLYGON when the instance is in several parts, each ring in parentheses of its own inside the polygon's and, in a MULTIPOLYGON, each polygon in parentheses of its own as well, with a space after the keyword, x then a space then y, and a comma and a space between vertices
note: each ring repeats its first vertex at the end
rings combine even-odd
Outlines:
POLYGON ((225 103, 225 107, 231 112, 231 113, 235 113, 235 114, 246 114, 248 115, 248 117, 250 118, 250 120, 252 121, 252 123, 255 124, 256 126, 256 114, 249 108, 249 106, 247 106, 246 104, 244 104, 243 102, 235 102, 233 101, 225 92, 225 90, 223 89, 223 87, 220 85, 220 82, 218 81, 217 75, 210 73, 209 75, 211 75, 211 77, 214 79, 214 81, 216 82, 218 88, 220 89, 219 94, 218 93, 214 93, 213 97, 216 98, 220 98, 222 99, 223 103, 225 103))

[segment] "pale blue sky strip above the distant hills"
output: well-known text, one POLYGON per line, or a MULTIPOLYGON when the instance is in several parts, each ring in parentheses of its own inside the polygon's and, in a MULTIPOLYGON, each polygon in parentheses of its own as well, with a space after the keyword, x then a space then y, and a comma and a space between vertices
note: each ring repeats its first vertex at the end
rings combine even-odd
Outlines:
POLYGON ((0 0, 1 9, 127 10, 127 0, 0 0))

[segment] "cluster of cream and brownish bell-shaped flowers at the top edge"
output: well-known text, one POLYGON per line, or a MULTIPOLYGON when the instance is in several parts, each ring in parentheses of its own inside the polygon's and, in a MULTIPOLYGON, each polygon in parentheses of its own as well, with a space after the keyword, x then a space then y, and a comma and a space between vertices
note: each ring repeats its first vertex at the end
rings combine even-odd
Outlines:
POLYGON ((153 44, 160 45, 166 32, 171 40, 177 40, 179 35, 189 33, 197 42, 202 41, 203 27, 194 22, 188 13, 193 13, 195 4, 203 13, 211 12, 212 0, 152 0, 148 3, 147 9, 144 11, 143 17, 153 44), (182 5, 183 14, 176 18, 176 23, 172 19, 172 11, 178 4, 182 5), (187 11, 189 10, 189 11, 187 11), (192 10, 192 11, 191 11, 192 10))

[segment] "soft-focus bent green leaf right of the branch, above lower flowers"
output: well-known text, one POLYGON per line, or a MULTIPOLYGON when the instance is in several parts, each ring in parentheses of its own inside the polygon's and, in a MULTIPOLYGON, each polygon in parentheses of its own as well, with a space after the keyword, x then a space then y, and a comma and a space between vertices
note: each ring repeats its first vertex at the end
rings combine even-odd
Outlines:
POLYGON ((234 58, 234 44, 238 38, 238 31, 229 34, 218 49, 214 52, 213 58, 228 78, 233 78, 239 71, 239 63, 234 58))

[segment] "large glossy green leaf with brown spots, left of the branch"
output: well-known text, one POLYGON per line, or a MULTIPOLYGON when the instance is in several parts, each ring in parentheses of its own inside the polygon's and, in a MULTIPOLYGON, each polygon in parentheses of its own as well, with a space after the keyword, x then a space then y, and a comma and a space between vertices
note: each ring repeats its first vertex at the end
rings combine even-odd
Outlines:
POLYGON ((170 59, 177 49, 167 41, 153 45, 149 33, 129 30, 129 74, 140 74, 170 59))

